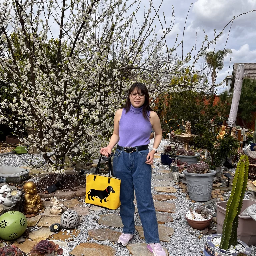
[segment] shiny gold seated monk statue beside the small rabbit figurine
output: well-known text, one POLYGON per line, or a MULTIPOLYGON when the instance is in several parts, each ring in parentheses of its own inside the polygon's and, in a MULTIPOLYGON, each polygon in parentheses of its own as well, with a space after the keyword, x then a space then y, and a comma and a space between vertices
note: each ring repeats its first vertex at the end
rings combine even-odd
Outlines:
POLYGON ((28 181, 23 186, 25 192, 25 205, 23 207, 25 214, 38 213, 44 208, 44 203, 36 191, 36 184, 33 181, 28 181))

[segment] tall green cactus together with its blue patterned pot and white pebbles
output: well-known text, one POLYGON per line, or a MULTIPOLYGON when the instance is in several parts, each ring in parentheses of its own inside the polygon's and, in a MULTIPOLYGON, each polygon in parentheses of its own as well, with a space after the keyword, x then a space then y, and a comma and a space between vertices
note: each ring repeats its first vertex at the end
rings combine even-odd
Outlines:
MULTIPOLYGON (((226 205, 222 234, 207 237, 204 246, 205 256, 251 255, 251 248, 245 242, 237 239, 238 223, 240 229, 245 229, 248 232, 248 226, 241 227, 239 222, 239 213, 242 209, 243 195, 248 179, 248 166, 248 157, 242 155, 237 164, 231 195, 226 205)), ((221 217, 217 216, 217 219, 220 222, 221 217)))

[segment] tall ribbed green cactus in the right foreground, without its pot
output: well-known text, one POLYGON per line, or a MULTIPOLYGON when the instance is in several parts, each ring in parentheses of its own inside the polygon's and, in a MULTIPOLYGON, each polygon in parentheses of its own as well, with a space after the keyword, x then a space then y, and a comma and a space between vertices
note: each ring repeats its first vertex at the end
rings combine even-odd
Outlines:
POLYGON ((227 202, 226 215, 222 230, 221 249, 229 249, 237 244, 238 215, 243 205, 243 196, 248 179, 248 156, 242 155, 237 164, 233 180, 233 188, 227 202))

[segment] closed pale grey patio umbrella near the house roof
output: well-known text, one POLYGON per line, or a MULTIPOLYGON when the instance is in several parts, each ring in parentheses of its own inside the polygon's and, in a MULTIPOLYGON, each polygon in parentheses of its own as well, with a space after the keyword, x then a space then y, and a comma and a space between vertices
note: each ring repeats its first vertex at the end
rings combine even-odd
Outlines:
POLYGON ((241 96, 243 78, 244 78, 244 64, 240 64, 236 72, 233 99, 232 99, 231 109, 228 117, 228 126, 236 125, 236 116, 237 116, 238 105, 239 105, 240 96, 241 96))

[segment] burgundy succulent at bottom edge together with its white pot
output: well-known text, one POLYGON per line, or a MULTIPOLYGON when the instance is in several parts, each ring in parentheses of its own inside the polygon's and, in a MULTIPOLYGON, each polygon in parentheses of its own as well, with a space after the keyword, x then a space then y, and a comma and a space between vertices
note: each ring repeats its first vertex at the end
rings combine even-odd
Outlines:
POLYGON ((30 250, 31 256, 59 256, 69 255, 69 250, 66 247, 59 246, 53 241, 41 240, 30 250))

